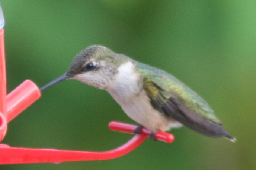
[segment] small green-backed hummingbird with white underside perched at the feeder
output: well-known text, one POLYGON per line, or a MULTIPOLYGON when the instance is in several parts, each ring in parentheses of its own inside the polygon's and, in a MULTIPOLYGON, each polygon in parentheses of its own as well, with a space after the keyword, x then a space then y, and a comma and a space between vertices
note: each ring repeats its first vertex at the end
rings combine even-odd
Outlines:
POLYGON ((67 79, 103 89, 122 110, 152 133, 186 126, 208 137, 236 139, 223 129, 223 123, 198 94, 174 76, 139 63, 104 46, 93 45, 77 54, 63 76, 46 84, 44 90, 67 79))

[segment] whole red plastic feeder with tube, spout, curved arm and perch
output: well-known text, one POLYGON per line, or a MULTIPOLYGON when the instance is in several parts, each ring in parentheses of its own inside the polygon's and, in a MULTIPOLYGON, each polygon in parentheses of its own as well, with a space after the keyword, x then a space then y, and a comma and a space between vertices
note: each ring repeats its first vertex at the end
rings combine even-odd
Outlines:
MULTIPOLYGON (((1 6, 0 6, 1 17, 1 6)), ((1 19, 0 19, 1 20, 1 19)), ((1 26, 1 25, 0 25, 1 26)), ((0 30, 0 142, 3 140, 7 123, 19 115, 41 96, 41 91, 30 80, 24 81, 15 90, 6 96, 6 71, 4 57, 4 30, 0 30)), ((125 123, 111 122, 109 129, 124 133, 133 133, 137 126, 125 123)), ((145 128, 141 134, 132 137, 124 145, 104 152, 72 151, 57 149, 32 149, 22 147, 10 147, 0 144, 0 164, 27 164, 27 163, 61 163, 65 161, 92 161, 108 160, 123 156, 138 147, 150 136, 150 131, 145 128)), ((174 140, 172 134, 158 131, 157 140, 171 143, 174 140)))

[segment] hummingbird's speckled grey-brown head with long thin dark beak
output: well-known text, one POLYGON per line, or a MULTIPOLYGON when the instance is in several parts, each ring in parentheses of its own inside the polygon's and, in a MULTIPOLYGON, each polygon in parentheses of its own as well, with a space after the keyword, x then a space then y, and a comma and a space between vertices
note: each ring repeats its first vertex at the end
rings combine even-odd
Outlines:
POLYGON ((76 55, 68 71, 51 81, 44 90, 60 81, 75 79, 99 89, 107 89, 118 73, 118 67, 128 60, 103 46, 89 46, 76 55))

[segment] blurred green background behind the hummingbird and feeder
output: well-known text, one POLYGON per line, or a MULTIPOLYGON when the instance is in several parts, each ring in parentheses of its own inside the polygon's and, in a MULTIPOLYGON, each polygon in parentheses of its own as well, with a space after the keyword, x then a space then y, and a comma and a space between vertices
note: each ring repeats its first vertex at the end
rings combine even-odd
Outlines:
MULTIPOLYGON (((256 1, 1 0, 7 87, 39 87, 65 73, 93 44, 163 69, 198 92, 236 143, 173 129, 174 143, 146 140, 114 160, 0 166, 4 170, 256 169, 256 1)), ((105 151, 132 135, 108 129, 133 123, 103 90, 64 81, 8 124, 16 147, 105 151)))

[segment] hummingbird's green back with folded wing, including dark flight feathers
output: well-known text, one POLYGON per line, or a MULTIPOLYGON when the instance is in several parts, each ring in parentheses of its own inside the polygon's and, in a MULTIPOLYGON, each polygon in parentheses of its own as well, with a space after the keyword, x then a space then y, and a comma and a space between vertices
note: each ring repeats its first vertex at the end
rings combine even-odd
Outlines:
POLYGON ((155 109, 206 136, 230 137, 198 94, 162 70, 144 64, 138 68, 143 77, 143 89, 155 109))

